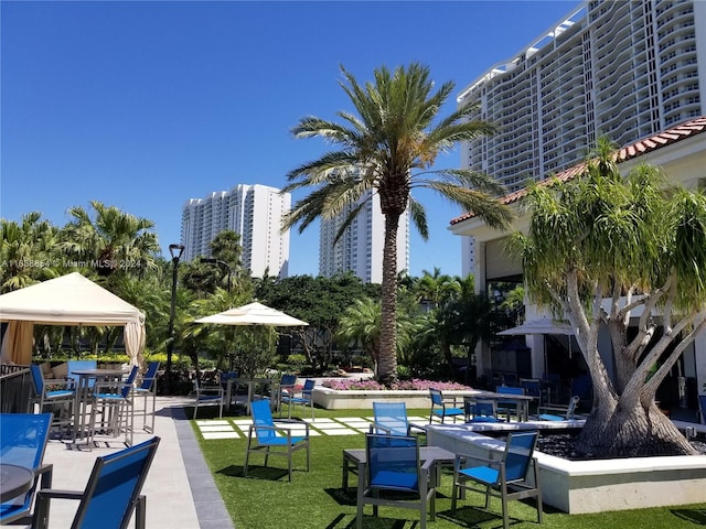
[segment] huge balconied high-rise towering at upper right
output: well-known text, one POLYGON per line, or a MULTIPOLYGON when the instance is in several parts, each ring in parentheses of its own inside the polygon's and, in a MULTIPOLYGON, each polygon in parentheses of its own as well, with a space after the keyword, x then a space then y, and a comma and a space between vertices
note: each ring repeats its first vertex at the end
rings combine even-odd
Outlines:
MULTIPOLYGON (((461 164, 509 192, 584 160, 599 136, 627 145, 706 114, 706 2, 588 0, 458 96, 496 136, 466 143, 461 164), (700 56, 700 68, 697 57, 700 56)), ((473 271, 462 242, 463 274, 473 271)))

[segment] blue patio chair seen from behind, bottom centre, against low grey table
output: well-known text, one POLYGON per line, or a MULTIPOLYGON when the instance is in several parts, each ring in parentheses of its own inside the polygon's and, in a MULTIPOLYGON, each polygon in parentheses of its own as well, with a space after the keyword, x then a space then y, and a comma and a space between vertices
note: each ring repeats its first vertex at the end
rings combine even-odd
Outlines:
POLYGON ((365 487, 357 489, 357 529, 363 528, 366 504, 373 506, 373 516, 377 516, 381 505, 416 509, 419 511, 419 527, 426 529, 427 514, 434 521, 436 512, 435 462, 427 460, 421 464, 418 439, 367 434, 365 451, 367 472, 365 487), (400 496, 400 493, 409 494, 400 496))

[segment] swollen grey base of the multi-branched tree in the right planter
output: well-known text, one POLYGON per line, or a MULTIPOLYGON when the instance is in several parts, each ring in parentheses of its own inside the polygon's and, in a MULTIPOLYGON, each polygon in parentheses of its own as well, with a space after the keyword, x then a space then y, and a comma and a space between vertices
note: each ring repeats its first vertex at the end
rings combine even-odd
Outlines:
POLYGON ((625 406, 624 399, 617 406, 606 399, 595 403, 576 450, 584 455, 605 458, 696 453, 654 402, 645 409, 639 401, 625 406))

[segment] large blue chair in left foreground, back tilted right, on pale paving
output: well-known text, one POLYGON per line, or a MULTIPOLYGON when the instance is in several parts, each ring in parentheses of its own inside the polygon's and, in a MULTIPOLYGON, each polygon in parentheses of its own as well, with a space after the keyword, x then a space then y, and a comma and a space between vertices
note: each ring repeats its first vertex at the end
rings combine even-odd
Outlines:
POLYGON ((84 490, 42 488, 36 493, 33 529, 46 529, 52 499, 78 499, 72 529, 126 529, 135 511, 135 527, 145 529, 147 499, 140 493, 160 438, 152 438, 96 458, 84 490))

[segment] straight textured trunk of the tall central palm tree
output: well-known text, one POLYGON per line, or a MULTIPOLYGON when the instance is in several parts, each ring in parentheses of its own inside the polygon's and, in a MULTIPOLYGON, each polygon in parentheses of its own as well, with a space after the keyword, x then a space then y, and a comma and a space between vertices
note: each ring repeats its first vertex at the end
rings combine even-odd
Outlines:
POLYGON ((397 378, 397 227, 399 214, 385 215, 383 285, 377 379, 391 384, 397 378))

